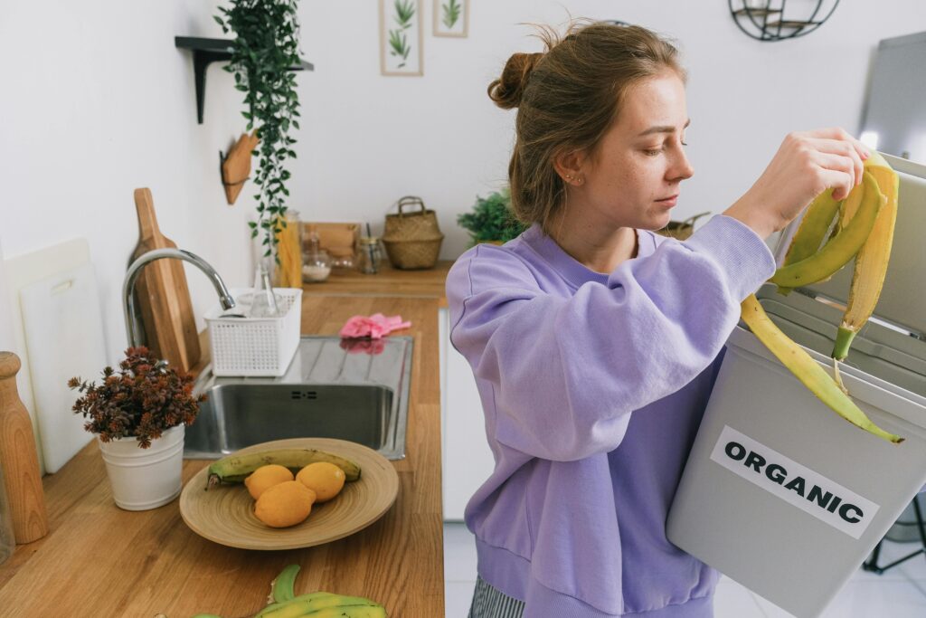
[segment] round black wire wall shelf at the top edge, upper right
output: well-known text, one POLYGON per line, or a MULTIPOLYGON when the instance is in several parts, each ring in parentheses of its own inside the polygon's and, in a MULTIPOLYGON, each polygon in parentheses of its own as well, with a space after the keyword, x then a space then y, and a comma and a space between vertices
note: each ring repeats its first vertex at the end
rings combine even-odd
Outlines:
POLYGON ((839 0, 727 0, 736 26, 758 41, 794 39, 830 19, 839 0), (816 6, 814 6, 816 5, 816 6), (785 13, 788 13, 786 15, 785 13), (795 14, 802 15, 795 18, 795 14))

